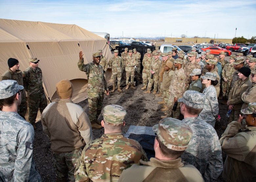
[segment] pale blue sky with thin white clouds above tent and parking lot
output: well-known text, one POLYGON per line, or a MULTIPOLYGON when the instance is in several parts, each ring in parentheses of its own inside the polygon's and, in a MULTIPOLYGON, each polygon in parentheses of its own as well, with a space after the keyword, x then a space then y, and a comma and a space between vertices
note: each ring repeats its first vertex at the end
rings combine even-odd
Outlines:
POLYGON ((111 37, 256 36, 255 0, 0 0, 0 18, 75 24, 111 37))

